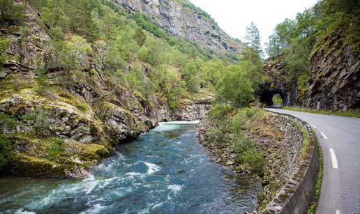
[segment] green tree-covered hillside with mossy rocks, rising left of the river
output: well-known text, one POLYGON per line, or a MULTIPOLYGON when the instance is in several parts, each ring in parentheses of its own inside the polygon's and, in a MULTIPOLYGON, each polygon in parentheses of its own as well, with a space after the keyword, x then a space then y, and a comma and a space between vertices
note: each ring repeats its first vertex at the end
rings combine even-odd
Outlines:
POLYGON ((83 176, 159 121, 200 118, 215 89, 237 106, 253 100, 261 61, 250 48, 211 52, 112 1, 0 3, 3 171, 83 176))

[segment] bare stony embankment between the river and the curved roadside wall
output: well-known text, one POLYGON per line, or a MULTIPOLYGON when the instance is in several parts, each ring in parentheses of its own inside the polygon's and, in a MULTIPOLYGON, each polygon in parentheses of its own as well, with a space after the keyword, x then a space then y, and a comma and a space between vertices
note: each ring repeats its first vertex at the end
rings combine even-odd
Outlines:
MULTIPOLYGON (((250 174, 251 169, 246 162, 237 162, 234 144, 218 144, 209 137, 209 132, 215 129, 216 125, 209 117, 197 125, 199 142, 213 154, 212 160, 239 173, 250 174)), ((293 121, 272 113, 249 120, 243 125, 243 130, 248 139, 256 142, 257 149, 262 151, 265 158, 263 173, 258 175, 263 186, 258 195, 257 211, 261 211, 299 169, 303 136, 293 121)))

